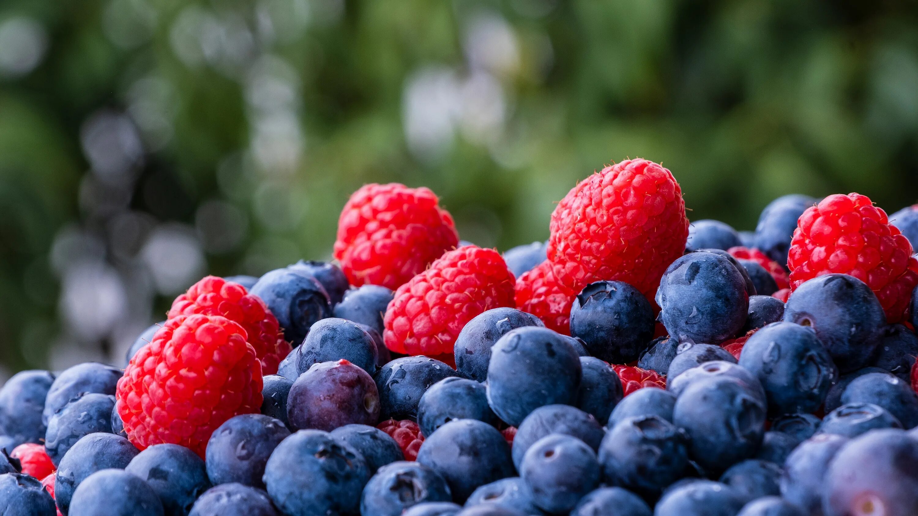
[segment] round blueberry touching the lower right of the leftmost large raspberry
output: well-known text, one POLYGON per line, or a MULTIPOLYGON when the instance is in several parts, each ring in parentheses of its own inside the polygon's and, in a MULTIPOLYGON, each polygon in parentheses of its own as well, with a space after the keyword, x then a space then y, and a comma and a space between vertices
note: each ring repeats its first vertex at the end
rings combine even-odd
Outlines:
POLYGON ((214 485, 239 483, 264 488, 264 465, 289 435, 283 422, 263 414, 229 418, 207 441, 207 478, 214 485))

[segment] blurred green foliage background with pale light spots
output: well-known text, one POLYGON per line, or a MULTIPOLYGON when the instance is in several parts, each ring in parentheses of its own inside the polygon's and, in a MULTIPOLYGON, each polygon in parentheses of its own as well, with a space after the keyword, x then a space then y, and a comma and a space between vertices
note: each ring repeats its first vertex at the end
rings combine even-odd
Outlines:
POLYGON ((788 192, 918 201, 918 5, 5 0, 0 376, 120 362, 207 272, 329 258, 364 182, 505 250, 636 156, 737 229, 788 192))

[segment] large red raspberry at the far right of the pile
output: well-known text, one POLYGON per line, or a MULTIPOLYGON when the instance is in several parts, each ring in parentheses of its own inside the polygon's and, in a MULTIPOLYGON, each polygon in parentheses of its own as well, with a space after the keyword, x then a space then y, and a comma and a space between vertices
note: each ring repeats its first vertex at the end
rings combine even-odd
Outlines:
POLYGON ((886 213, 859 193, 835 194, 807 208, 788 255, 790 289, 833 272, 864 281, 877 294, 890 324, 905 317, 918 284, 912 244, 886 213))

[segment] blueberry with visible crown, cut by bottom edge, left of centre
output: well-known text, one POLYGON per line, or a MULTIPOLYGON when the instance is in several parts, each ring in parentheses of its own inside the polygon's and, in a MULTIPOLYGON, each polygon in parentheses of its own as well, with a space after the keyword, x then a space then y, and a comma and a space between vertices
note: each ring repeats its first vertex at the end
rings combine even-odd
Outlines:
POLYGON ((360 513, 400 516, 426 501, 450 501, 450 488, 439 473, 417 462, 393 462, 380 467, 364 487, 360 513))

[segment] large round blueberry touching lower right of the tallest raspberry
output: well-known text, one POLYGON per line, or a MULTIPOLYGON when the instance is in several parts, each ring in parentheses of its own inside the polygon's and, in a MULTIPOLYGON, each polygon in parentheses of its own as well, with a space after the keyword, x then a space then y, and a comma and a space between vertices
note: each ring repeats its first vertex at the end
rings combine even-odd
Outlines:
POLYGON ((745 324, 749 296, 739 270, 709 252, 677 258, 656 291, 659 319, 679 341, 720 344, 745 324))

